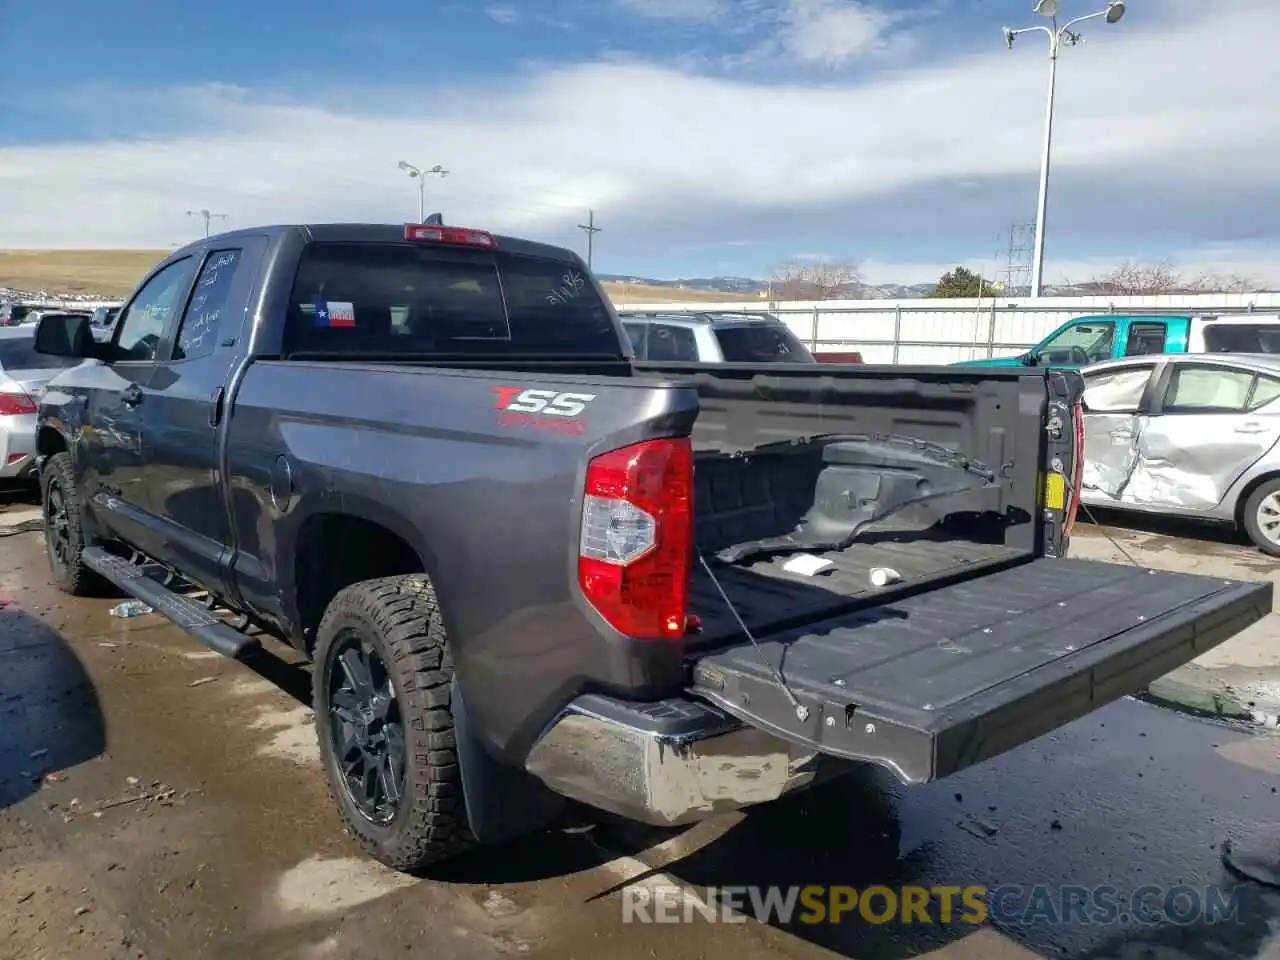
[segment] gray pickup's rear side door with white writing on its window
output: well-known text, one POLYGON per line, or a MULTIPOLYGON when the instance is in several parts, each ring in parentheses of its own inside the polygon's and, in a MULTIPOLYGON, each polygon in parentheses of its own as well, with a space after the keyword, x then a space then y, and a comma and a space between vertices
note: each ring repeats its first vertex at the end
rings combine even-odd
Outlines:
POLYGON ((159 541, 152 557, 223 595, 230 522, 219 433, 265 244, 246 237, 205 253, 177 332, 143 387, 147 509, 159 541))

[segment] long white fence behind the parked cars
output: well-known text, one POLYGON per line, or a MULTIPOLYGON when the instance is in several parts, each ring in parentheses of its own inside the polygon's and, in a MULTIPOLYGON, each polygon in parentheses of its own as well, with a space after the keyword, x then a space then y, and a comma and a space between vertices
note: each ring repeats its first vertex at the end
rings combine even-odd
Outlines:
POLYGON ((1060 324, 1094 314, 1280 314, 1280 293, 1039 300, 828 300, 795 303, 626 303, 618 311, 767 310, 820 351, 860 351, 868 364, 951 364, 1020 353, 1060 324))

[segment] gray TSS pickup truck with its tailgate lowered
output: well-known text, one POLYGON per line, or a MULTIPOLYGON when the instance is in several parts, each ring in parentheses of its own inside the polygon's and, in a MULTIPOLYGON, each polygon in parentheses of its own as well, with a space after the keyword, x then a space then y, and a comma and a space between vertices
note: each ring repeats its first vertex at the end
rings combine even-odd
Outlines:
POLYGON ((337 805, 397 868, 566 797, 673 826, 858 763, 945 777, 1271 609, 1065 557, 1075 372, 636 362, 527 241, 228 233, 109 342, 37 348, 83 358, 40 401, 58 585, 306 652, 337 805))

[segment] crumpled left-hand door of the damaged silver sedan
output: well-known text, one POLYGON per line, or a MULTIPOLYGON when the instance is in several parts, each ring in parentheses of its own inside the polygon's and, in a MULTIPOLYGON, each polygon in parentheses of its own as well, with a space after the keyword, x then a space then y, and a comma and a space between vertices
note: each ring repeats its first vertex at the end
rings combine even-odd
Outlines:
POLYGON ((1123 497, 1138 463, 1143 410, 1151 403, 1158 366, 1135 362, 1084 375, 1084 475, 1080 486, 1085 500, 1123 497))

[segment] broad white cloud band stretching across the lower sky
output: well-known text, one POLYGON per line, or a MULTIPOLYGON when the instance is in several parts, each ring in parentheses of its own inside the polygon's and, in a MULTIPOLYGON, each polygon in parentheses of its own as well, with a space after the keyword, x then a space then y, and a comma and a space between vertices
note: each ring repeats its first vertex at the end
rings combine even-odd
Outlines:
MULTIPOLYGON (((1079 219, 1087 207, 1089 234, 1140 237, 1144 216, 1091 200, 1117 178, 1135 184, 1130 200, 1148 202, 1151 216, 1169 215, 1156 207, 1171 189, 1188 202, 1230 189, 1252 210, 1280 210, 1266 47, 1277 14, 1263 3, 1222 5, 1156 29, 1134 12, 1132 24, 1066 50, 1051 216, 1079 219)), ((127 118, 148 136, 0 147, 0 247, 165 246, 191 236, 184 211, 198 207, 230 214, 230 225, 397 220, 416 210, 416 191, 396 161, 419 150, 406 159, 453 173, 428 184, 433 210, 576 242, 573 225, 594 207, 608 230, 600 248, 618 256, 641 229, 671 250, 731 237, 724 224, 748 215, 823 228, 782 238, 796 248, 835 248, 828 237, 841 232, 841 250, 870 256, 922 192, 942 197, 925 207, 922 242, 966 236, 957 246, 972 251, 991 233, 948 211, 983 191, 955 184, 986 183, 995 197, 986 216, 1005 225, 1030 219, 1043 70, 1037 51, 1005 50, 996 24, 989 49, 846 84, 769 86, 612 61, 328 105, 225 87, 95 91, 86 109, 100 123, 127 118), (1006 183, 1018 192, 1000 193, 1006 183), (858 215, 867 205, 878 219, 858 215), (637 227, 628 234, 627 224, 637 227)), ((1247 233, 1221 214, 1198 216, 1203 243, 1247 233)), ((1277 221, 1266 228, 1272 239, 1277 221)), ((1051 227, 1051 257, 1061 237, 1051 227)), ((1170 250, 1161 237, 1149 243, 1170 250)))

